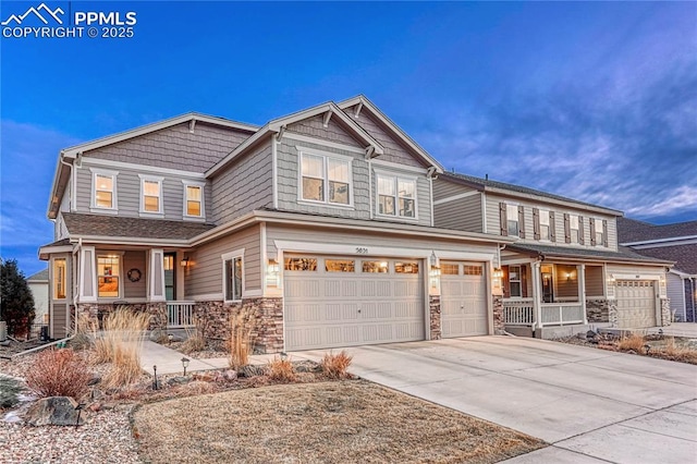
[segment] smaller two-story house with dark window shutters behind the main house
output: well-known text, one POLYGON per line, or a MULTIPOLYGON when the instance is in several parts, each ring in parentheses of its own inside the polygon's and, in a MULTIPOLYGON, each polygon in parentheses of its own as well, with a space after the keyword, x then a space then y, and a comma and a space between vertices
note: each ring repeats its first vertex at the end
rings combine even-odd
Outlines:
POLYGON ((517 333, 531 328, 551 337, 560 326, 635 329, 670 322, 671 261, 619 246, 621 216, 489 179, 444 173, 433 183, 437 227, 517 239, 501 249, 503 322, 517 333))

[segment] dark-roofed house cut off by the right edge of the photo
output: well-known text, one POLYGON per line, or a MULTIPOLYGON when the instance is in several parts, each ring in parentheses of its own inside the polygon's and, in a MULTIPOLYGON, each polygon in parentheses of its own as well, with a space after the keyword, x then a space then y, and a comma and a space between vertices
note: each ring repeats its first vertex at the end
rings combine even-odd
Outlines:
POLYGON ((677 321, 697 321, 697 221, 656 225, 621 218, 620 243, 641 255, 675 262, 668 273, 671 312, 677 321))

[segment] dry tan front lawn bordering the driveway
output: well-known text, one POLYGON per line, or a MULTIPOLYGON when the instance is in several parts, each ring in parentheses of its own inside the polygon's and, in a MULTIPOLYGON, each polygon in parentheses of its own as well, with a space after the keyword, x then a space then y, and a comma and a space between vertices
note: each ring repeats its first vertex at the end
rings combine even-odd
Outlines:
POLYGON ((147 404, 134 434, 151 463, 494 463, 545 447, 363 380, 147 404))

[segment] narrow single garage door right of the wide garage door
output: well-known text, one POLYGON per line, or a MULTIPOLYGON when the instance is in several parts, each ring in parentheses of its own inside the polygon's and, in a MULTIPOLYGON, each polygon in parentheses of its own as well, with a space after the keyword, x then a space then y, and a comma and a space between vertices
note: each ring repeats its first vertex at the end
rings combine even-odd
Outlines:
POLYGON ((486 335, 489 298, 484 265, 441 261, 440 269, 442 337, 486 335))

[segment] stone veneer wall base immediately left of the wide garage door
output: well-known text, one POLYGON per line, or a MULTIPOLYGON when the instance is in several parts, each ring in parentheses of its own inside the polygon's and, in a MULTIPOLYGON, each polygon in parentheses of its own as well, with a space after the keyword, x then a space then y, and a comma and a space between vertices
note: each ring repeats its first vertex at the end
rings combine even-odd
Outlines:
POLYGON ((248 298, 232 304, 197 302, 194 314, 206 338, 230 340, 232 319, 239 318, 250 330, 255 353, 283 351, 283 298, 248 298))

